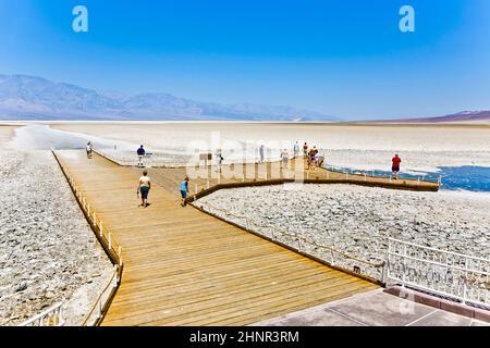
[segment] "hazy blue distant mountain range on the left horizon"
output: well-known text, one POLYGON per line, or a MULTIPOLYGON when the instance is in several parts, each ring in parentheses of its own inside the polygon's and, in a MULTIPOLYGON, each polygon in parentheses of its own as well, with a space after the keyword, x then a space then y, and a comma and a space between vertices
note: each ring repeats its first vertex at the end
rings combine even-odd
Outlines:
POLYGON ((0 120, 341 121, 292 107, 219 104, 168 94, 98 92, 26 75, 0 75, 0 120))

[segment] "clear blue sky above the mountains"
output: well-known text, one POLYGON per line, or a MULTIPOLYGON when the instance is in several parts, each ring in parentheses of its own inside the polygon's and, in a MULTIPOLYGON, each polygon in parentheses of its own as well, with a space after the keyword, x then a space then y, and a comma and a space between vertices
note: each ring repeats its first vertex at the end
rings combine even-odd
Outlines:
POLYGON ((488 0, 0 0, 0 73, 98 90, 428 116, 490 109, 489 62, 488 0))

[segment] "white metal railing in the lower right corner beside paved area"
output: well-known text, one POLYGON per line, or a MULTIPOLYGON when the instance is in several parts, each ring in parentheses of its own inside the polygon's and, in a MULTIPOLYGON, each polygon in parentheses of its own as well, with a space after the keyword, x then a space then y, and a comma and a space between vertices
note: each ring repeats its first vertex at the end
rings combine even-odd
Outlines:
POLYGON ((490 260, 390 238, 388 282, 490 306, 490 260))

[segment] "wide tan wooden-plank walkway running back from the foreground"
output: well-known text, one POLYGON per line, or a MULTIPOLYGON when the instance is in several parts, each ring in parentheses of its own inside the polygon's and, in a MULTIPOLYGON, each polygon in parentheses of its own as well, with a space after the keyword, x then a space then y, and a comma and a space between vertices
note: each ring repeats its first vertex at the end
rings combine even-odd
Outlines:
POLYGON ((139 172, 83 151, 57 154, 124 248, 122 283, 102 325, 246 325, 377 288, 180 207, 180 170, 151 172, 162 186, 152 186, 144 209, 139 172))

